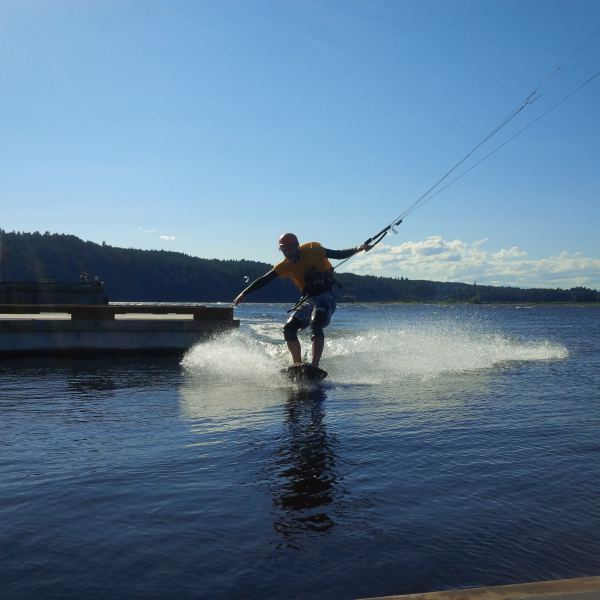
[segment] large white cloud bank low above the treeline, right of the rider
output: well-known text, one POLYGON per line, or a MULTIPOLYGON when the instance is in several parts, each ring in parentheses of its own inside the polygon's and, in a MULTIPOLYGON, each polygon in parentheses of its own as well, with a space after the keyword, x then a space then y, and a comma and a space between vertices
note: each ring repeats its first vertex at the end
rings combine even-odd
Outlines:
POLYGON ((563 250, 557 256, 533 259, 512 246, 484 248, 487 239, 472 243, 431 236, 399 246, 380 244, 348 263, 354 273, 435 281, 477 281, 520 287, 585 286, 600 288, 600 259, 563 250))

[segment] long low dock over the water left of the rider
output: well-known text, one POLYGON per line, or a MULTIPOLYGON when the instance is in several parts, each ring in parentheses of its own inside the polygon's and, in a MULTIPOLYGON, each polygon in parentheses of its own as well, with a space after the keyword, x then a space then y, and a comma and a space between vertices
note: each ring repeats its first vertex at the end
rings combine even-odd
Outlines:
POLYGON ((227 306, 0 304, 0 356, 183 353, 237 327, 227 306))

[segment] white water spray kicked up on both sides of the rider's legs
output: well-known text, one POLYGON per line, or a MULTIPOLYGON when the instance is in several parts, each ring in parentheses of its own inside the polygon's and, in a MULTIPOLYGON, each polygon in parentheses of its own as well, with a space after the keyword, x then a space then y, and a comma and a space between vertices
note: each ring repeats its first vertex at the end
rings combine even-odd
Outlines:
MULTIPOLYGON (((358 332, 332 329, 323 356, 330 381, 373 384, 480 371, 511 362, 561 360, 568 350, 548 340, 520 340, 450 322, 358 332)), ((284 384, 279 371, 289 364, 289 354, 280 339, 280 326, 262 322, 196 345, 182 364, 204 381, 273 387, 284 384)))

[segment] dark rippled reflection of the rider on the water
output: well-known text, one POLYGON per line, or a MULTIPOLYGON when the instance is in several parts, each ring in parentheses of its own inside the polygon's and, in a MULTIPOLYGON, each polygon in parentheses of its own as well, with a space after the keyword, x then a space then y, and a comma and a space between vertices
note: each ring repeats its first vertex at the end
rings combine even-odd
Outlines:
POLYGON ((328 507, 337 490, 335 438, 327 431, 321 388, 290 390, 285 434, 276 453, 274 527, 286 538, 334 526, 328 507))

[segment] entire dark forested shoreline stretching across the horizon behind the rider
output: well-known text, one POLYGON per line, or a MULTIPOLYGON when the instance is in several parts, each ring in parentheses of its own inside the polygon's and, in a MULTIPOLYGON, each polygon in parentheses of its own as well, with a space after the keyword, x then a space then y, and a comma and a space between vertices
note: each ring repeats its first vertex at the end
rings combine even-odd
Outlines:
MULTIPOLYGON (((73 236, 2 233, 2 281, 78 281, 85 272, 99 276, 112 301, 230 302, 272 265, 249 260, 195 258, 166 250, 115 248, 73 236)), ((336 275, 340 301, 600 302, 596 290, 577 287, 522 289, 466 283, 336 275)), ((276 280, 249 297, 254 302, 291 302, 298 292, 276 280)))

